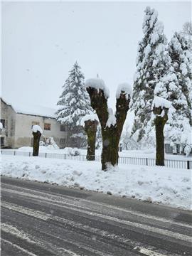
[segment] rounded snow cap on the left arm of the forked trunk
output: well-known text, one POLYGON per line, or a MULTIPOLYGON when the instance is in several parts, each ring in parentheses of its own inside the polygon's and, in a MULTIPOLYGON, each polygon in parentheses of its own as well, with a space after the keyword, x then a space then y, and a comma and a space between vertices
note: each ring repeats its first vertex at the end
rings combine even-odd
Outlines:
POLYGON ((97 90, 103 90, 105 98, 107 99, 108 97, 110 97, 110 90, 105 85, 104 80, 100 78, 90 78, 86 80, 85 87, 92 87, 97 90))

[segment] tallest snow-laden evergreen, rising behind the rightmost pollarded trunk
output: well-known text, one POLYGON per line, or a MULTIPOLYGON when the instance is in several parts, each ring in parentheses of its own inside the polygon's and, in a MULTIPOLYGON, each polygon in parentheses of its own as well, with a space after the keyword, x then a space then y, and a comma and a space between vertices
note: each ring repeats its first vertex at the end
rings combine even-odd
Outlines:
POLYGON ((145 10, 142 28, 144 38, 139 42, 132 100, 132 110, 135 113, 132 134, 137 132, 137 142, 151 133, 154 87, 169 68, 164 26, 158 21, 157 12, 149 6, 145 10))

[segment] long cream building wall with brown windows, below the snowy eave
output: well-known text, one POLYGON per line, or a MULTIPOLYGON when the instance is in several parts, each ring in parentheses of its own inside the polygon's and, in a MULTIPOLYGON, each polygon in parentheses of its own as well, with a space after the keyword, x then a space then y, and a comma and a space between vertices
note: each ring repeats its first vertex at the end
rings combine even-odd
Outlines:
MULTIPOLYGON (((59 147, 68 146, 68 132, 60 131, 60 124, 58 124, 54 118, 17 113, 14 144, 15 148, 21 146, 32 146, 33 134, 31 132, 31 128, 34 122, 36 122, 43 129, 43 135, 45 137, 53 137, 59 147), (50 131, 44 129, 45 123, 50 124, 50 131)), ((43 136, 41 136, 41 140, 43 140, 43 136)))

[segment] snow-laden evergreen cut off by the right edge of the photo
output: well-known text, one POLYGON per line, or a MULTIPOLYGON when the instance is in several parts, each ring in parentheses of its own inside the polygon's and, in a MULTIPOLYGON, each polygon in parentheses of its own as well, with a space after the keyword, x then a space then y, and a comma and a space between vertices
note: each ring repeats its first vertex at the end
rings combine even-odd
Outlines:
POLYGON ((192 101, 192 55, 188 41, 179 33, 169 43, 169 55, 171 57, 171 72, 165 78, 168 90, 168 100, 174 107, 168 124, 166 125, 166 137, 171 139, 171 146, 191 144, 191 101, 192 101), (188 134, 183 139, 183 134, 188 134))

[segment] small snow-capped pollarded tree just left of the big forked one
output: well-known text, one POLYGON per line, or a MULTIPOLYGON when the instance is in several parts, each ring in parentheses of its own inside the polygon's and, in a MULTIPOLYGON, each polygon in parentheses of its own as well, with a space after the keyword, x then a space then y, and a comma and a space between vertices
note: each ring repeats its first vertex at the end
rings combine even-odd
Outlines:
POLYGON ((87 133, 87 160, 95 160, 95 142, 98 125, 97 114, 87 114, 82 118, 82 125, 87 133))

